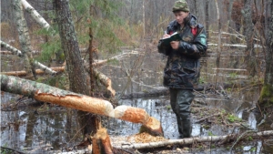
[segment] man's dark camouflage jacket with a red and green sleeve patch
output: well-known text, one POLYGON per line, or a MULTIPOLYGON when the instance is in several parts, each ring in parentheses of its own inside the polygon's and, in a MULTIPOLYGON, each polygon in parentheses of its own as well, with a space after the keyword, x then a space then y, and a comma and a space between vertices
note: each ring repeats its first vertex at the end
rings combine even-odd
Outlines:
POLYGON ((189 14, 181 27, 176 20, 167 26, 167 34, 178 32, 182 38, 178 49, 172 49, 159 40, 158 52, 168 56, 164 69, 164 86, 174 88, 195 88, 200 76, 199 58, 207 53, 207 36, 204 26, 197 24, 197 18, 189 14))

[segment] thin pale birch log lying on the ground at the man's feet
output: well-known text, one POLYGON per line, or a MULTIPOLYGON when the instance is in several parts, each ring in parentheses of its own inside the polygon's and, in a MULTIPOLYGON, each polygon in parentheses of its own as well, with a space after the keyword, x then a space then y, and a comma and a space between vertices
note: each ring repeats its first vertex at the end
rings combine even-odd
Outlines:
MULTIPOLYGON (((226 136, 211 136, 211 137, 197 137, 197 138, 187 138, 187 139, 169 139, 158 142, 150 142, 150 143, 135 143, 130 145, 121 145, 121 146, 113 146, 116 149, 154 149, 160 147, 166 147, 168 145, 188 145, 193 143, 201 143, 201 142, 216 142, 216 141, 225 141, 225 140, 235 140, 238 138, 240 134, 229 134, 226 136)), ((248 136, 242 137, 247 138, 248 136)), ((261 131, 257 133, 251 134, 252 138, 258 137, 273 137, 273 130, 261 131)))

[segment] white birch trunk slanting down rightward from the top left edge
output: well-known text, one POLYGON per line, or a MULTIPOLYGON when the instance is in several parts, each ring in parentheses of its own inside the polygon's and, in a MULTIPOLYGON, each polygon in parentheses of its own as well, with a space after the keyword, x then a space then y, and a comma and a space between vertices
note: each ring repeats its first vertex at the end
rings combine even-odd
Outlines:
POLYGON ((34 19, 35 21, 42 27, 44 27, 46 30, 49 29, 49 24, 45 21, 45 19, 42 17, 42 15, 40 15, 34 8, 32 5, 29 5, 28 2, 26 2, 25 0, 21 0, 22 5, 25 7, 25 11, 27 13, 29 13, 34 19))

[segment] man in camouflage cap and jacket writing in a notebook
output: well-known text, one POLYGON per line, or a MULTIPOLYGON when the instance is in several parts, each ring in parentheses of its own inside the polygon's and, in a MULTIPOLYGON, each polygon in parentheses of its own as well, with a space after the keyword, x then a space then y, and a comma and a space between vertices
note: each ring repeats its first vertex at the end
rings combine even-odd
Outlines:
POLYGON ((207 52, 207 36, 204 26, 197 24, 197 17, 189 13, 186 0, 178 0, 173 13, 176 20, 169 23, 163 38, 177 32, 181 40, 169 44, 160 40, 157 48, 159 53, 168 56, 163 84, 169 87, 171 107, 183 139, 191 136, 190 104, 200 76, 199 58, 207 52))

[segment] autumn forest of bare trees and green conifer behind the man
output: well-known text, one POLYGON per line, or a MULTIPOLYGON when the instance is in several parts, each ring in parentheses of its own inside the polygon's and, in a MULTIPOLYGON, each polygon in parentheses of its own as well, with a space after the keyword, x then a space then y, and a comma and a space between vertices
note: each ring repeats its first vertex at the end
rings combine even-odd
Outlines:
MULTIPOLYGON (((69 52, 66 53, 66 49, 61 41, 64 38, 61 35, 62 26, 60 25, 65 25, 65 23, 61 23, 59 20, 58 10, 56 9, 58 6, 57 1, 29 0, 27 2, 32 5, 50 25, 50 30, 41 28, 41 26, 35 22, 31 14, 27 11, 23 12, 30 36, 30 50, 34 60, 43 63, 46 67, 72 66, 72 63, 70 63, 69 60, 67 61, 69 52), (60 34, 59 36, 57 35, 58 33, 60 34), (65 59, 66 64, 64 64, 65 59)), ((108 59, 120 55, 128 48, 144 51, 146 53, 144 56, 147 56, 147 53, 149 53, 148 55, 157 54, 157 41, 163 35, 169 21, 173 20, 171 8, 174 2, 175 1, 172 0, 69 1, 68 12, 71 13, 77 38, 76 44, 78 44, 78 49, 76 50, 79 50, 81 57, 86 61, 89 60, 90 64, 94 63, 96 60, 98 61, 98 59, 108 59)), ((215 64, 213 68, 207 67, 207 59, 206 57, 203 58, 203 69, 207 70, 212 68, 216 71, 213 77, 201 77, 201 83, 205 85, 207 83, 213 83, 213 87, 217 89, 219 88, 217 84, 220 82, 230 83, 230 77, 234 81, 232 82, 233 85, 238 84, 238 82, 241 83, 241 80, 238 78, 242 77, 244 80, 247 78, 248 86, 258 86, 257 92, 259 99, 257 104, 262 105, 258 106, 259 111, 271 107, 273 98, 272 27, 270 25, 270 22, 272 22, 272 2, 266 0, 195 0, 188 1, 188 5, 191 13, 197 16, 198 22, 206 26, 208 42, 207 51, 216 56, 214 61, 212 61, 215 64), (243 53, 245 57, 237 58, 236 62, 232 64, 232 67, 230 68, 230 66, 226 65, 227 61, 220 57, 231 50, 236 50, 236 52, 239 51, 240 53, 243 53), (227 76, 224 77, 220 76, 221 74, 219 71, 225 69, 232 69, 233 71, 236 71, 236 73, 227 73, 227 76), (240 71, 244 71, 243 74, 240 74, 240 71)), ((24 51, 22 42, 20 43, 18 37, 20 36, 18 33, 20 31, 17 29, 18 20, 15 15, 13 1, 2 1, 1 41, 24 51)), ((67 46, 69 45, 67 44, 67 46)), ((4 44, 1 43, 1 47, 5 48, 4 44)), ((69 47, 67 50, 69 50, 69 47)), ((24 63, 25 65, 11 65, 6 62, 4 55, 10 53, 4 51, 5 50, 1 49, 1 72, 4 72, 5 74, 8 71, 20 71, 25 68, 26 63, 24 63)), ((127 75, 128 80, 130 80, 130 77, 134 77, 134 74, 139 71, 139 67, 137 66, 141 66, 139 61, 141 61, 141 58, 144 58, 144 56, 138 57, 136 62, 132 65, 131 70, 126 69, 126 74, 129 74, 127 75), (130 72, 128 73, 127 71, 130 72)), ((12 57, 11 59, 12 61, 17 61, 17 58, 18 57, 12 57)), ((81 61, 81 58, 77 61, 81 61)), ((118 60, 116 59, 107 60, 107 62, 108 65, 118 64, 118 60)), ((119 65, 122 66, 122 64, 119 65)), ((156 66, 156 70, 163 70, 164 66, 161 62, 158 62, 156 66)), ((89 92, 85 92, 86 89, 73 89, 74 87, 81 87, 78 85, 73 86, 72 84, 74 83, 72 82, 73 76, 75 77, 79 74, 74 72, 75 74, 73 75, 73 72, 71 72, 71 70, 69 71, 69 67, 64 76, 30 76, 30 78, 54 87, 70 89, 77 93, 86 93, 88 96, 101 98, 101 94, 107 93, 105 92, 106 89, 101 87, 100 83, 97 83, 96 77, 92 75, 92 72, 94 71, 93 68, 89 67, 89 69, 89 73, 84 73, 84 71, 81 70, 81 73, 83 73, 82 75, 87 76, 86 81, 83 81, 82 83, 86 83, 89 92), (68 82, 68 78, 70 82, 68 82)), ((28 73, 26 71, 26 75, 27 74, 31 74, 31 71, 28 73)), ((158 84, 160 86, 161 83, 159 82, 158 84)), ((120 88, 119 91, 116 90, 118 91, 118 95, 133 92, 133 90, 128 92, 126 85, 127 84, 120 88)), ((117 87, 114 87, 114 89, 117 89, 117 87)), ((109 99, 114 105, 116 103, 115 100, 113 101, 109 98, 109 95, 104 95, 103 98, 109 99)), ((118 105, 118 103, 116 105, 118 105)), ((86 113, 79 112, 78 114, 86 113)), ((100 121, 98 118, 94 117, 91 119, 93 123, 96 123, 94 122, 96 120, 100 121)), ((98 126, 95 126, 95 129, 97 127, 98 126)), ((92 126, 90 128, 92 129, 92 126)), ((88 132, 90 130, 86 129, 86 131, 88 132)))

